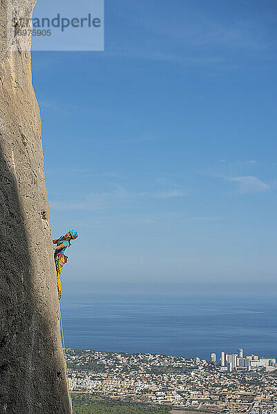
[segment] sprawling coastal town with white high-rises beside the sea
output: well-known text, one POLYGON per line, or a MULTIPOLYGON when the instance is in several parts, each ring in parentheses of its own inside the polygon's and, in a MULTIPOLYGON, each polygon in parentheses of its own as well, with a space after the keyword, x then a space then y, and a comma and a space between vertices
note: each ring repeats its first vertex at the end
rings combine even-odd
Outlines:
POLYGON ((277 414, 276 360, 243 357, 238 351, 231 356, 222 352, 218 360, 212 353, 207 361, 68 348, 70 390, 73 395, 165 404, 174 413, 277 414))

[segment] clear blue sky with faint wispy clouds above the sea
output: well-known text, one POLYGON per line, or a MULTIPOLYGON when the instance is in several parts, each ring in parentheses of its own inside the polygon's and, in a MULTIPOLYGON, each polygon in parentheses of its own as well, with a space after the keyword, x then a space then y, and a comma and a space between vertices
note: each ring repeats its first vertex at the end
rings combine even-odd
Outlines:
POLYGON ((105 9, 104 52, 32 53, 66 288, 274 282, 276 1, 105 9))

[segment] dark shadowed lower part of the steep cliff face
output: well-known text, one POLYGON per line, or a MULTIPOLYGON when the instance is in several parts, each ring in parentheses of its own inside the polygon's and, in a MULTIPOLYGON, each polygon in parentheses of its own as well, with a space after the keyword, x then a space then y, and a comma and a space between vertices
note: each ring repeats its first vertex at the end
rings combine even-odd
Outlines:
POLYGON ((7 139, 0 133, 0 412, 69 414, 57 298, 49 300, 53 288, 38 279, 53 277, 50 259, 34 260, 41 253, 30 244, 7 139))

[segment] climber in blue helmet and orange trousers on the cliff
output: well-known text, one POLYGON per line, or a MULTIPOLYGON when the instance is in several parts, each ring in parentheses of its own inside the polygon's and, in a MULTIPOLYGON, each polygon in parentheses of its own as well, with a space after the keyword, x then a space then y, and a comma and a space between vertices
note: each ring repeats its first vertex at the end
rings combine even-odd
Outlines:
POLYGON ((54 257, 55 257, 55 265, 56 265, 56 272, 57 272, 57 290, 59 299, 61 299, 61 268, 67 262, 68 257, 64 254, 66 248, 70 247, 70 240, 77 239, 78 232, 77 230, 70 230, 66 233, 65 236, 59 237, 59 239, 53 240, 53 244, 57 244, 54 246, 54 257))

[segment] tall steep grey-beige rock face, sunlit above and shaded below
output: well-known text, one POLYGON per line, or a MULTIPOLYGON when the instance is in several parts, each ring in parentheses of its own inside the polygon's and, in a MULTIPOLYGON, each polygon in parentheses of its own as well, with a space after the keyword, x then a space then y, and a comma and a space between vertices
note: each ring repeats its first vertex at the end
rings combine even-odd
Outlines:
POLYGON ((34 6, 0 0, 0 413, 70 414, 30 37, 16 35, 34 6))

